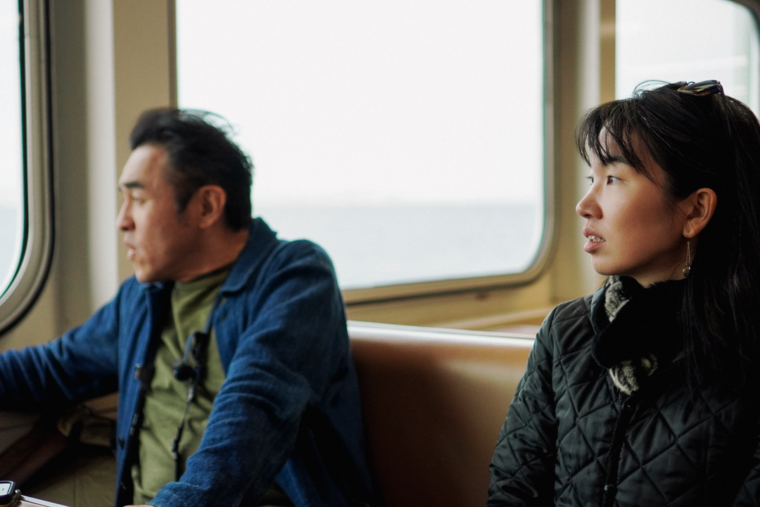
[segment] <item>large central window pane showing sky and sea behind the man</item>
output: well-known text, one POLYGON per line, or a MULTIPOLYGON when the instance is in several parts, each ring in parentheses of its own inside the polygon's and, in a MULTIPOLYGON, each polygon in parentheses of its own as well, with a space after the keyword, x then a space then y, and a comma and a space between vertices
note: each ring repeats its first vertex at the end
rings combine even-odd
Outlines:
POLYGON ((543 229, 543 2, 177 0, 179 104, 344 288, 524 271, 543 229))

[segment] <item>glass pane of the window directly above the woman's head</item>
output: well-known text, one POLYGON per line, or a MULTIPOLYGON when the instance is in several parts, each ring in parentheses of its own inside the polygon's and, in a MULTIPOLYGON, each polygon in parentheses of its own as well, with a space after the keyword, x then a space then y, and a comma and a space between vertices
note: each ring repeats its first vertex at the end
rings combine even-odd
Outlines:
POLYGON ((618 98, 651 79, 717 79, 760 112, 758 27, 749 9, 729 0, 617 0, 616 10, 618 98))

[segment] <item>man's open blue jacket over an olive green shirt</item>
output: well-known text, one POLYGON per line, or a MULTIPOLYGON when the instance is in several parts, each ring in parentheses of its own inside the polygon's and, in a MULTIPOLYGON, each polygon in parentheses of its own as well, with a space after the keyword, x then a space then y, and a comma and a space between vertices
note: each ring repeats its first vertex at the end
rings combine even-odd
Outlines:
MULTIPOLYGON (((141 383, 171 283, 125 281, 84 325, 0 355, 6 409, 78 403, 119 390, 116 505, 131 503, 141 383), (144 371, 144 370, 143 370, 144 371)), ((226 375, 201 445, 150 503, 255 505, 273 479, 295 505, 370 500, 359 392, 331 261, 254 220, 211 318, 226 375)))

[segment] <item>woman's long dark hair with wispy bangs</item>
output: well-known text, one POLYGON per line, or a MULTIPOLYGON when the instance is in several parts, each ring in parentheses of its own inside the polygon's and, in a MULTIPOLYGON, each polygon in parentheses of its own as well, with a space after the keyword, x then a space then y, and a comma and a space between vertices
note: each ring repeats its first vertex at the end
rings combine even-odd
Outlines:
POLYGON ((643 145, 666 173, 663 192, 671 201, 714 190, 717 206, 699 234, 683 296, 684 351, 692 386, 740 388, 760 372, 760 124, 722 93, 644 85, 630 99, 588 112, 576 132, 578 151, 587 163, 590 152, 610 163, 611 139, 653 179, 636 153, 643 145))

